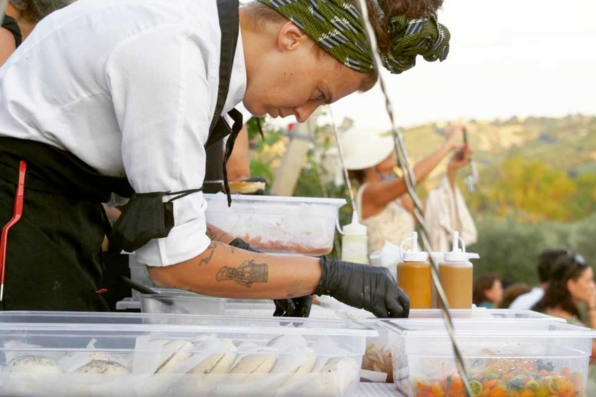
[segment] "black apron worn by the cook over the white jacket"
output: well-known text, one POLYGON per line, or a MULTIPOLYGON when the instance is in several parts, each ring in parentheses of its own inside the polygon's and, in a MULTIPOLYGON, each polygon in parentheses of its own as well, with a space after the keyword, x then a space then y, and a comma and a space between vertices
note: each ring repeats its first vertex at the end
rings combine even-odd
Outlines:
MULTIPOLYGON (((236 110, 228 113, 234 120, 232 128, 220 116, 238 39, 238 0, 218 0, 217 5, 222 32, 219 89, 205 146, 231 134, 222 164, 226 180, 225 162, 242 126, 236 110)), ((111 230, 117 241, 110 241, 110 249, 132 251, 144 245, 147 235, 166 237, 175 224, 172 203, 161 203, 162 196, 171 194, 176 199, 202 190, 199 186, 185 192, 135 194, 126 178, 103 176, 69 152, 32 140, 0 137, 0 227, 13 215, 21 160, 27 161, 23 217, 8 235, 2 310, 107 311, 101 297, 101 243, 110 229, 101 203, 109 201, 112 192, 130 198, 111 230), (155 214, 146 212, 155 209, 155 196, 162 205, 157 209, 163 211, 162 224, 155 214), (138 224, 132 215, 153 221, 138 224), (142 229, 147 226, 154 229, 142 229)))

